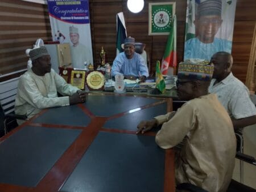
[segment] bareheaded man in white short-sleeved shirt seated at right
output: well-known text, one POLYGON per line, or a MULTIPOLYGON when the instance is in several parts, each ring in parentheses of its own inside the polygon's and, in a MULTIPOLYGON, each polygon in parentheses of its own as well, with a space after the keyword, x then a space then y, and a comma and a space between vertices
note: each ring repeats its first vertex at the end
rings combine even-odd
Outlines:
POLYGON ((217 52, 210 60, 214 64, 210 93, 218 100, 232 118, 235 130, 256 123, 256 108, 250 99, 249 90, 231 72, 233 57, 227 52, 217 52))

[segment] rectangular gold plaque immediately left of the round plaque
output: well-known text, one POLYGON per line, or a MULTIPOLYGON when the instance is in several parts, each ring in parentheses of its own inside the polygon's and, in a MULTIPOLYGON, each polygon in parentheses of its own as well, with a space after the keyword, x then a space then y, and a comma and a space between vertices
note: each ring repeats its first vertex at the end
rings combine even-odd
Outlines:
POLYGON ((85 89, 85 73, 86 71, 73 70, 71 72, 70 84, 79 89, 85 89))

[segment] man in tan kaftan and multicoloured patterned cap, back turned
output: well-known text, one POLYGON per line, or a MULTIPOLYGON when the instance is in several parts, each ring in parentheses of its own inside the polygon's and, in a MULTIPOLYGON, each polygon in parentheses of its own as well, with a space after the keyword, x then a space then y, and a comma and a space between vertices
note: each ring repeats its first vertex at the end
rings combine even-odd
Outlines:
POLYGON ((176 184, 190 183, 211 192, 226 191, 232 179, 236 136, 232 121, 215 94, 208 94, 213 65, 207 61, 179 64, 177 92, 188 100, 177 112, 142 121, 137 133, 162 125, 156 143, 164 149, 184 142, 176 155, 176 184))

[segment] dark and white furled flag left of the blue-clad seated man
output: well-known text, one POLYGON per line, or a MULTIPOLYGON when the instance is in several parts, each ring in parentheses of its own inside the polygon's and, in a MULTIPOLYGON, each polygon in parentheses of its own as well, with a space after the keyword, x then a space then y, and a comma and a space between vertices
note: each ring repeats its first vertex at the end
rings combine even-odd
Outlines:
POLYGON ((117 14, 117 55, 123 52, 122 44, 125 42, 127 37, 125 18, 123 12, 118 12, 117 14))

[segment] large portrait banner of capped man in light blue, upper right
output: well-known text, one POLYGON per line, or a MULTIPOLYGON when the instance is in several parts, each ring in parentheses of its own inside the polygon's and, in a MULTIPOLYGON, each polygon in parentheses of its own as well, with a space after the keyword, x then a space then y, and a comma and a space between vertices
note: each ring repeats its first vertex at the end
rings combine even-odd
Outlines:
POLYGON ((237 0, 187 0, 184 60, 231 53, 237 0))

